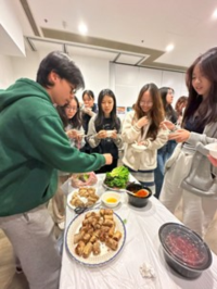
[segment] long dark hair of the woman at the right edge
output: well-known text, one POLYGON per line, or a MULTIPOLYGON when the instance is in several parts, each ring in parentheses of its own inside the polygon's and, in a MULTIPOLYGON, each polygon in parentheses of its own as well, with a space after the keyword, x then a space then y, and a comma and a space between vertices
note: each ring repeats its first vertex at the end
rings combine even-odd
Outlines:
POLYGON ((201 54, 188 68, 186 83, 189 89, 188 104, 183 115, 183 127, 187 121, 197 112, 196 126, 205 126, 217 121, 217 47, 207 50, 201 54), (197 95, 192 85, 194 67, 199 65, 201 73, 210 81, 208 96, 204 105, 200 108, 203 96, 197 95))

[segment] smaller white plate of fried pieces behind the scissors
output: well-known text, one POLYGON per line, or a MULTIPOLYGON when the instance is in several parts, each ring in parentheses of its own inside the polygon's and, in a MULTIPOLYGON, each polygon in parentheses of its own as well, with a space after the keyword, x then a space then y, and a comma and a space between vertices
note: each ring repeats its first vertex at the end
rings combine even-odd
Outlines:
POLYGON ((100 197, 94 187, 82 187, 68 193, 67 205, 75 208, 89 208, 100 202, 100 197))

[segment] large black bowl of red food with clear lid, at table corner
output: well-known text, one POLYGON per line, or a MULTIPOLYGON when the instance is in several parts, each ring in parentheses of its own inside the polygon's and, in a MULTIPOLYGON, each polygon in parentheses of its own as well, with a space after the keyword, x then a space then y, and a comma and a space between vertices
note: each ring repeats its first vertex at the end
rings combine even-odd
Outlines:
POLYGON ((187 278, 197 278, 212 264, 212 253, 202 238, 188 227, 166 223, 158 230, 167 264, 187 278))

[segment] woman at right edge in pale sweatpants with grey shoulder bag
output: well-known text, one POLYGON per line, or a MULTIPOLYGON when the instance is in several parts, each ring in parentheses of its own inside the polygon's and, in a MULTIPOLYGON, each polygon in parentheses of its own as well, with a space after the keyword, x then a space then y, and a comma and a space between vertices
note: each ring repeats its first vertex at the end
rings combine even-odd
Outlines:
POLYGON ((217 208, 217 169, 204 149, 217 138, 217 48, 193 62, 187 86, 182 129, 169 135, 180 143, 166 163, 161 201, 174 213, 182 197, 183 223, 203 237, 217 208))

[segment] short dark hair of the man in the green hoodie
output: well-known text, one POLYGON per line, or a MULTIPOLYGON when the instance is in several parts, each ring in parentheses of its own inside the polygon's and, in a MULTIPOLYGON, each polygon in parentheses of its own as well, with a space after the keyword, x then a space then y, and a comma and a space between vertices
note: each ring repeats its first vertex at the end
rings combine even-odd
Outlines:
POLYGON ((61 51, 53 51, 41 61, 36 81, 43 87, 53 86, 48 79, 51 72, 55 72, 61 78, 69 81, 75 86, 75 89, 85 87, 85 80, 80 70, 67 54, 61 51))

